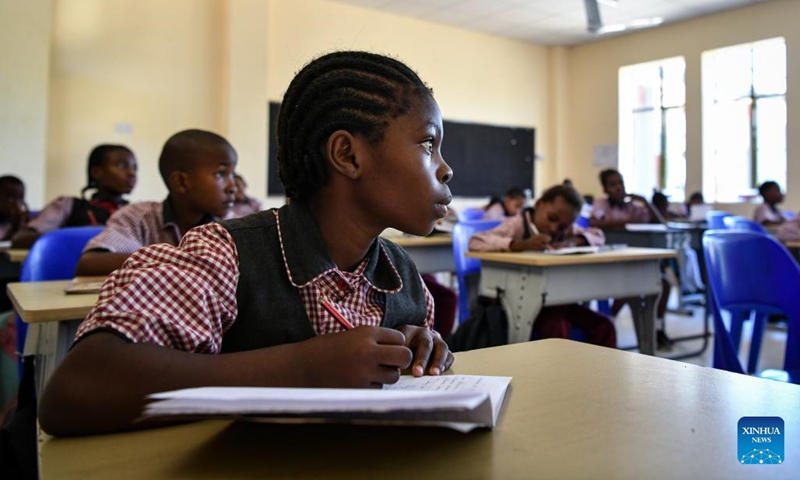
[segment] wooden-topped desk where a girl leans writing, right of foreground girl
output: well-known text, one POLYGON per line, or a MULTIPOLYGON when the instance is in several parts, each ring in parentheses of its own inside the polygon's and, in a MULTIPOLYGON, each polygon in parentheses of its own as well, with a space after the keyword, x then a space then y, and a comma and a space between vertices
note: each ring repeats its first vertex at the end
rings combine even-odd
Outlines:
POLYGON ((530 339, 533 321, 545 305, 635 298, 629 304, 639 351, 655 353, 659 262, 675 257, 674 250, 625 248, 586 255, 468 252, 467 256, 481 260, 483 295, 494 297, 497 289, 505 292, 509 343, 530 339))

